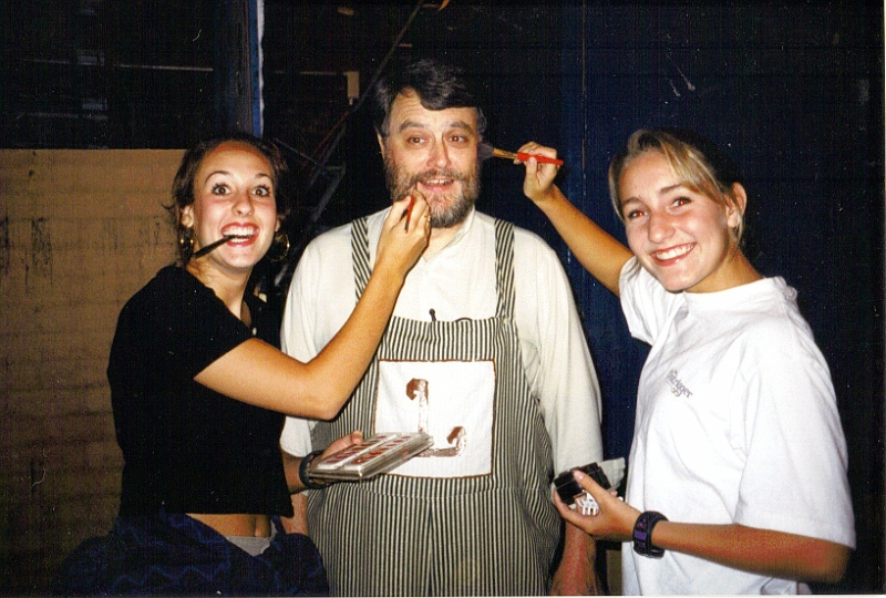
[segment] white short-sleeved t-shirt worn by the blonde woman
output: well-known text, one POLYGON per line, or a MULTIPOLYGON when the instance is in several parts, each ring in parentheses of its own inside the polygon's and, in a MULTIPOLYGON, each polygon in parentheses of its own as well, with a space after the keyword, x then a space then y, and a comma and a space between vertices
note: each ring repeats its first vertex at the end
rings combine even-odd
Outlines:
MULTIPOLYGON (((855 546, 834 388, 796 291, 766 278, 671 293, 631 259, 619 281, 640 377, 627 502, 681 523, 855 546)), ((622 546, 626 594, 796 594, 796 581, 622 546)))

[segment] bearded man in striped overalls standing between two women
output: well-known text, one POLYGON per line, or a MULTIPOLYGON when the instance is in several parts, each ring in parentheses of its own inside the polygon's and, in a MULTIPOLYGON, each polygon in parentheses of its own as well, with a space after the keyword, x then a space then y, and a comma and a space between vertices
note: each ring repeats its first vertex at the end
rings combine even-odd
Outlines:
MULTIPOLYGON (((425 198, 430 243, 351 401, 331 422, 290 419, 281 446, 310 456, 353 430, 420 425, 435 443, 360 484, 320 488, 302 471, 315 489, 307 508, 293 498, 295 525, 307 523, 333 595, 598 590, 594 542, 564 532, 550 493, 554 474, 602 458, 597 378, 565 272, 537 236, 474 210, 485 118, 460 71, 423 60, 375 92, 391 198, 425 198)), ((387 212, 307 247, 285 351, 310 359, 339 330, 387 212)))

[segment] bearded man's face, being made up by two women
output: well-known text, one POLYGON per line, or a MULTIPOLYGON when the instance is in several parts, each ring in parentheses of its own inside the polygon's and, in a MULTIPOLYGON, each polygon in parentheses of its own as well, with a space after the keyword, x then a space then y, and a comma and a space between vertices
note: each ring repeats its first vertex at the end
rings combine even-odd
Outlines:
POLYGON ((394 200, 421 192, 433 228, 460 225, 480 195, 476 111, 427 110, 415 93, 398 95, 387 137, 379 137, 394 200))

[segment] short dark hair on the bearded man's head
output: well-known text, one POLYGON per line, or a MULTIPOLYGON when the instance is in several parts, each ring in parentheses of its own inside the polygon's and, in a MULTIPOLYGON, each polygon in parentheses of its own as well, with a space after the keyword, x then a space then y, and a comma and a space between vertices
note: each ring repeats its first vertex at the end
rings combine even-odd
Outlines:
POLYGON ((388 137, 388 118, 396 96, 409 91, 415 92, 422 106, 427 110, 474 109, 477 114, 477 134, 483 137, 486 116, 468 89, 463 71, 434 59, 422 59, 394 66, 375 84, 372 124, 382 138, 388 137))

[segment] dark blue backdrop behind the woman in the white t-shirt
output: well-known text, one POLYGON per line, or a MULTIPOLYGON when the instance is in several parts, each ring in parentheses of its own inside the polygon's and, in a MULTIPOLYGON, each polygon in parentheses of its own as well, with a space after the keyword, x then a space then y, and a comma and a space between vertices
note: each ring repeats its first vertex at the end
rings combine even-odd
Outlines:
MULTIPOLYGON (((624 238, 606 166, 633 130, 696 128, 743 166, 749 257, 797 289, 837 392, 858 530, 841 589, 883 591, 883 6, 563 12, 564 187, 624 238)), ((607 447, 621 454, 645 351, 564 256, 604 384, 607 447)))

